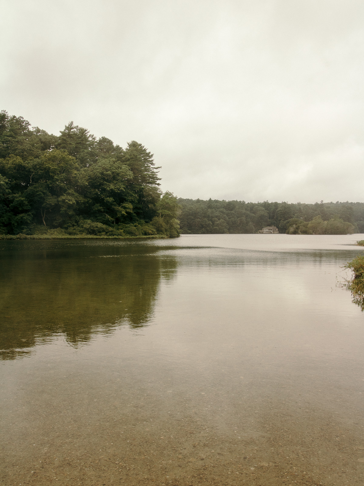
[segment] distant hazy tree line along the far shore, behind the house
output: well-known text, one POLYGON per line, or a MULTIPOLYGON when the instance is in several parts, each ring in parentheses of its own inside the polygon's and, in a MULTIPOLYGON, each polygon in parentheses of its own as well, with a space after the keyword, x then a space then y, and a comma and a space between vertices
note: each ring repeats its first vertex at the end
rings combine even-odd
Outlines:
POLYGON ((264 226, 277 226, 280 233, 291 234, 364 232, 364 203, 246 203, 180 198, 178 204, 182 208, 181 233, 185 234, 255 233, 264 226))

